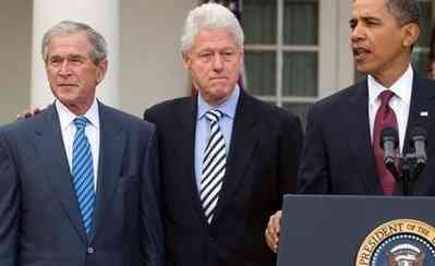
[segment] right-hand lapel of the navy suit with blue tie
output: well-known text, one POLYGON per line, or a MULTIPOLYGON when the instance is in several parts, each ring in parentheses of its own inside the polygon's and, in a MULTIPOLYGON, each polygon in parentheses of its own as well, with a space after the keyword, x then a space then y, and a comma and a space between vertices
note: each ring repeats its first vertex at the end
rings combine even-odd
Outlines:
POLYGON ((100 232, 104 216, 112 206, 113 194, 121 176, 122 159, 125 148, 124 121, 118 121, 110 110, 98 102, 100 118, 99 165, 97 179, 97 203, 94 211, 95 233, 100 232))

